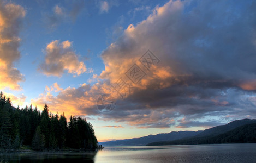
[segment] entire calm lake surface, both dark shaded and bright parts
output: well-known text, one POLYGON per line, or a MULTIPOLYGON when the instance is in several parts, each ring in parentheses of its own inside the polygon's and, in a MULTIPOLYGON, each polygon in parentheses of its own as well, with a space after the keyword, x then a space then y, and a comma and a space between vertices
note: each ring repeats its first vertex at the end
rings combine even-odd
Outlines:
MULTIPOLYGON (((0 154, 3 162, 256 162, 256 144, 106 147, 97 153, 0 154)), ((0 161, 1 161, 0 160, 0 161)))

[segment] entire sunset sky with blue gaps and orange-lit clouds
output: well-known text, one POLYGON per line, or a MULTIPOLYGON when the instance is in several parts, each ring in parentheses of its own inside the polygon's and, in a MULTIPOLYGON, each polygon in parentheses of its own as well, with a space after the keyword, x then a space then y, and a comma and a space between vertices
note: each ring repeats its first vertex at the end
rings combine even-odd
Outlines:
POLYGON ((0 91, 98 141, 256 118, 255 65, 255 1, 0 0, 0 91))

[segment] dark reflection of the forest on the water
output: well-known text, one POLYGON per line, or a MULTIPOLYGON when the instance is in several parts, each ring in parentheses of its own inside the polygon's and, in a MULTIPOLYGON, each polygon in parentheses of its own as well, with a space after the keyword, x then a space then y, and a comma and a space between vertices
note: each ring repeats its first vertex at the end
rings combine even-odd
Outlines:
POLYGON ((94 162, 97 152, 0 153, 0 162, 94 162))

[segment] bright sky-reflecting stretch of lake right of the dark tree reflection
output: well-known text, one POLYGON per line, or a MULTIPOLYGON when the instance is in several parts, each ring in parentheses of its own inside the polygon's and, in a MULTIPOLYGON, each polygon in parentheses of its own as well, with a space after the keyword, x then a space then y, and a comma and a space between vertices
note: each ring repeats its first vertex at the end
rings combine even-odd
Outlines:
POLYGON ((105 147, 95 162, 256 162, 255 144, 105 147))

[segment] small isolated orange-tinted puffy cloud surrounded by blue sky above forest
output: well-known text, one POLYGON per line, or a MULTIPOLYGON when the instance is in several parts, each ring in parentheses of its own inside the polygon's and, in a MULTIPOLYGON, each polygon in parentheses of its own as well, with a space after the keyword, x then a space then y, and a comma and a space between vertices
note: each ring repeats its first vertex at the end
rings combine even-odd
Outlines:
POLYGON ((50 42, 45 49, 45 60, 39 66, 41 70, 47 76, 62 76, 65 70, 68 73, 79 76, 86 72, 86 66, 84 62, 79 61, 78 54, 72 49, 72 42, 55 40, 50 42))

